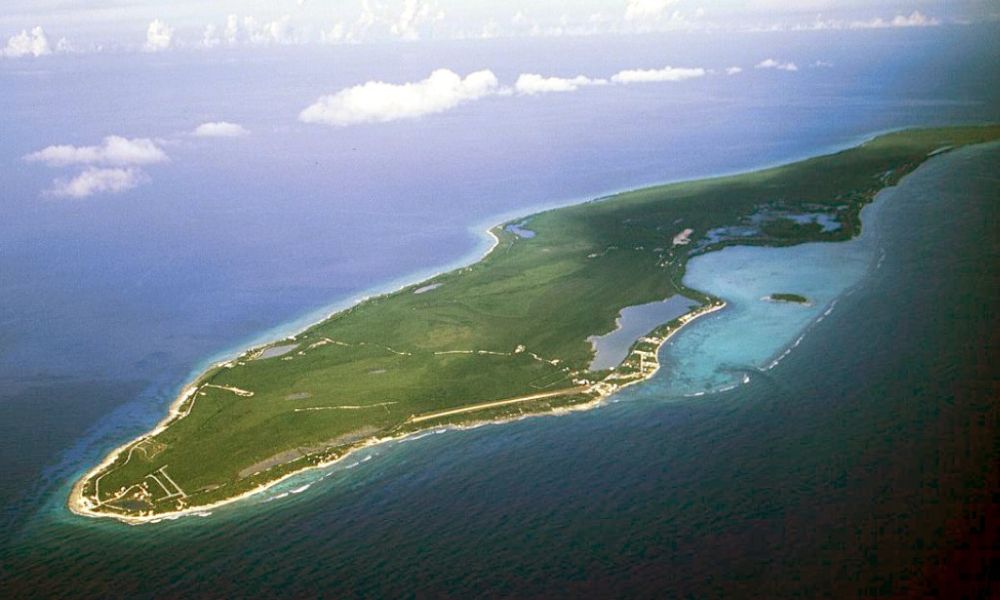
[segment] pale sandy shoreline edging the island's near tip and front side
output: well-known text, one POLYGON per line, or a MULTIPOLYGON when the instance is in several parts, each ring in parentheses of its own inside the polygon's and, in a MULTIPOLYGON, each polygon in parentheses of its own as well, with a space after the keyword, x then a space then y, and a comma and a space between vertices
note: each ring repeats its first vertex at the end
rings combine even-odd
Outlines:
MULTIPOLYGON (((497 242, 499 242, 499 238, 497 238, 496 235, 493 234, 492 228, 489 231, 489 233, 490 233, 490 235, 495 240, 497 240, 497 242)), ((496 247, 496 244, 494 244, 494 246, 492 248, 495 248, 495 247, 496 247)), ((490 249, 491 252, 492 252, 492 248, 490 249)), ((413 285, 413 284, 410 284, 410 285, 413 285)), ((410 287, 410 286, 407 285, 407 286, 404 286, 404 288, 405 287, 410 287)), ((365 440, 364 442, 358 444, 357 446, 350 448, 344 454, 342 454, 342 455, 340 455, 340 456, 338 456, 338 457, 336 457, 334 459, 331 459, 329 461, 320 462, 320 463, 315 464, 315 465, 305 466, 305 467, 303 467, 303 468, 301 468, 299 470, 292 471, 291 473, 286 473, 286 474, 282 475, 281 477, 278 477, 277 479, 274 479, 272 481, 268 481, 266 483, 263 483, 263 484, 261 484, 260 486, 258 486, 256 488, 253 488, 251 490, 243 492, 242 494, 238 494, 238 495, 233 496, 231 498, 226 498, 225 500, 220 500, 218 502, 213 502, 211 504, 206 504, 206 505, 202 505, 202 506, 192 506, 192 507, 185 508, 185 509, 182 509, 182 510, 164 512, 164 513, 159 513, 159 514, 156 514, 156 515, 139 516, 139 517, 130 517, 130 516, 126 516, 126 515, 117 515, 117 514, 113 514, 113 513, 96 512, 96 511, 92 510, 91 503, 83 496, 83 493, 82 493, 82 491, 83 491, 83 485, 90 479, 91 476, 96 475, 102 469, 104 469, 105 467, 107 467, 111 463, 113 463, 121 455, 121 453, 124 452, 124 451, 126 451, 129 447, 134 446, 135 444, 139 443, 140 441, 142 441, 142 440, 144 440, 144 439, 146 439, 146 438, 148 438, 150 436, 156 435, 157 433, 159 433, 160 431, 162 431, 163 429, 165 429, 174 419, 183 418, 183 415, 186 414, 186 412, 181 411, 180 408, 183 406, 184 402, 188 398, 192 398, 194 392, 197 391, 197 389, 198 389, 198 387, 196 385, 197 381, 195 381, 195 382, 192 382, 191 384, 187 385, 184 388, 184 390, 181 392, 181 394, 179 394, 178 397, 171 403, 171 405, 170 405, 170 411, 168 412, 167 416, 164 419, 162 419, 159 423, 157 423, 157 425, 156 425, 155 428, 153 428, 153 429, 147 431, 146 433, 144 433, 143 435, 141 435, 141 436, 139 436, 137 438, 134 438, 132 440, 129 440, 125 444, 122 444, 121 446, 115 448, 114 450, 112 450, 111 452, 109 452, 104 457, 104 460, 102 460, 100 462, 100 464, 98 464, 95 467, 91 468, 83 476, 81 476, 80 478, 78 478, 77 481, 73 484, 73 488, 72 488, 72 490, 70 492, 69 498, 67 499, 67 508, 69 509, 69 511, 71 513, 73 513, 73 514, 75 514, 77 516, 87 517, 87 518, 91 518, 91 519, 112 519, 112 520, 124 523, 126 525, 146 525, 146 524, 159 523, 161 521, 173 521, 173 520, 179 519, 181 517, 197 516, 200 513, 210 512, 210 511, 215 510, 217 508, 222 508, 222 507, 230 505, 230 504, 235 504, 235 503, 243 501, 243 500, 248 500, 248 499, 252 498, 253 496, 256 496, 258 494, 262 494, 263 492, 266 492, 267 490, 272 489, 272 488, 278 486, 281 483, 284 483, 285 481, 287 481, 287 480, 289 480, 289 479, 291 479, 293 477, 300 476, 300 475, 302 475, 304 473, 308 473, 310 471, 321 470, 321 469, 325 469, 325 468, 334 466, 337 463, 339 463, 340 461, 345 460, 348 457, 354 455, 356 452, 359 452, 359 451, 364 450, 366 448, 371 448, 371 447, 378 446, 378 445, 381 445, 381 444, 386 444, 386 443, 389 443, 389 442, 402 441, 402 440, 405 440, 407 438, 411 438, 411 437, 415 437, 415 436, 426 434, 428 431, 432 431, 432 430, 435 430, 435 429, 444 429, 444 430, 447 430, 447 431, 462 431, 462 430, 466 430, 466 429, 474 429, 474 428, 477 428, 477 427, 482 427, 482 426, 485 426, 485 425, 501 425, 501 424, 504 424, 504 423, 512 423, 512 422, 515 422, 515 421, 520 421, 520 420, 529 419, 529 418, 561 416, 561 415, 566 415, 566 414, 575 413, 575 412, 584 412, 584 411, 593 410, 593 409, 596 409, 599 406, 601 406, 608 398, 614 396, 615 394, 617 394, 621 390, 623 390, 623 389, 625 389, 627 387, 633 386, 633 385, 637 385, 639 383, 643 383, 643 382, 648 381, 649 379, 653 378, 660 371, 660 367, 661 367, 660 360, 659 360, 660 351, 662 350, 663 346, 668 341, 670 341, 670 339, 674 335, 676 335, 678 332, 680 332, 681 330, 683 330, 685 327, 687 327, 691 323, 694 323, 695 321, 697 321, 699 318, 701 318, 703 316, 706 316, 706 315, 709 315, 709 314, 712 314, 712 313, 715 313, 715 312, 718 312, 718 311, 726 308, 726 306, 727 306, 726 302, 720 300, 720 301, 718 301, 718 303, 715 303, 715 304, 702 305, 699 308, 697 308, 695 310, 692 310, 691 312, 685 313, 684 315, 681 315, 680 317, 678 317, 676 320, 679 321, 679 324, 677 326, 675 326, 673 329, 671 329, 669 332, 667 332, 667 334, 663 336, 663 338, 660 340, 660 342, 656 346, 656 351, 654 352, 654 354, 656 355, 656 361, 655 361, 655 365, 654 365, 653 369, 651 369, 648 373, 643 373, 642 376, 640 378, 638 378, 638 379, 635 379, 635 380, 632 380, 632 381, 628 381, 628 382, 625 382, 623 384, 615 386, 615 388, 612 389, 612 390, 609 390, 609 391, 601 391, 600 389, 595 390, 595 391, 598 392, 598 395, 597 395, 597 397, 595 397, 593 400, 591 400, 589 402, 583 402, 583 403, 580 403, 580 404, 573 404, 573 405, 569 405, 569 406, 560 406, 560 407, 556 407, 556 408, 551 408, 551 409, 546 410, 546 411, 539 411, 539 412, 534 412, 534 413, 529 413, 529 414, 520 414, 520 415, 517 415, 517 416, 511 416, 511 417, 500 417, 500 418, 494 418, 494 419, 482 419, 482 420, 478 420, 478 421, 472 421, 470 423, 461 423, 461 424, 432 425, 432 426, 421 428, 421 429, 417 429, 417 430, 414 430, 414 431, 408 431, 408 432, 400 434, 400 435, 394 435, 394 436, 389 436, 389 437, 375 437, 375 438, 370 438, 370 439, 365 440)), ((662 326, 663 325, 660 325, 660 327, 662 327, 662 326)), ((601 383, 602 382, 598 382, 596 385, 600 385, 601 383)), ((192 402, 192 404, 193 404, 193 402, 192 402)), ((189 408, 189 410, 190 410, 190 408, 189 408)))

